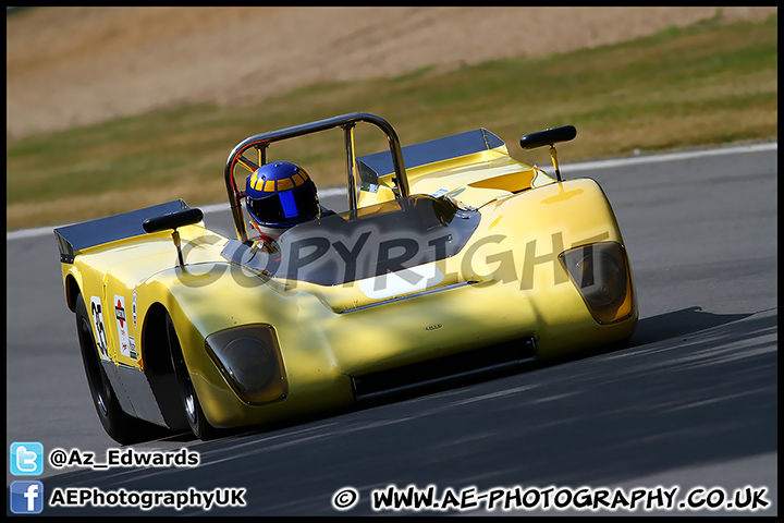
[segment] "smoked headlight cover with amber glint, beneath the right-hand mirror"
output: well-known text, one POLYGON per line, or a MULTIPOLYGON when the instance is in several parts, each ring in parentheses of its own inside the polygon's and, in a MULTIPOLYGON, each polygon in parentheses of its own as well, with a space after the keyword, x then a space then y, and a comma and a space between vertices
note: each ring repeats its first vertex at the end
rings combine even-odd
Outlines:
POLYGON ((564 251, 559 259, 593 319, 607 325, 632 315, 632 278, 623 245, 617 242, 591 243, 564 251))

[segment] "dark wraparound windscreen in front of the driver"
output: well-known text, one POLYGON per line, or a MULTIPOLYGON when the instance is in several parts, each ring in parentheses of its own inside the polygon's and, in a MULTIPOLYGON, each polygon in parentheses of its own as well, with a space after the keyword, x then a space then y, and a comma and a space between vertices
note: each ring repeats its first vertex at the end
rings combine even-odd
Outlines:
POLYGON ((406 198, 293 227, 271 250, 232 241, 228 259, 271 277, 335 285, 453 256, 479 224, 446 198, 406 198))

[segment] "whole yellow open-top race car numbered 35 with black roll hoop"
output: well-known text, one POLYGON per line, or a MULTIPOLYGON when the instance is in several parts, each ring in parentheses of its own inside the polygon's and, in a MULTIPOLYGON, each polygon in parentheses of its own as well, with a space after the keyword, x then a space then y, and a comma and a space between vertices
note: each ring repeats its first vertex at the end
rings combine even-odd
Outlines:
MULTIPOLYGON (((575 134, 520 138, 550 146, 552 178, 485 129, 401 147, 385 120, 350 113, 231 151, 236 238, 182 200, 56 229, 107 433, 208 439, 627 339, 637 304, 613 210, 596 181, 561 178, 554 144, 575 134), (389 150, 356 156, 357 124, 389 150), (248 227, 250 192, 275 182, 260 175, 269 147, 327 130, 344 134, 348 210, 277 238, 248 227)), ((275 182, 283 204, 307 178, 293 172, 275 182)))

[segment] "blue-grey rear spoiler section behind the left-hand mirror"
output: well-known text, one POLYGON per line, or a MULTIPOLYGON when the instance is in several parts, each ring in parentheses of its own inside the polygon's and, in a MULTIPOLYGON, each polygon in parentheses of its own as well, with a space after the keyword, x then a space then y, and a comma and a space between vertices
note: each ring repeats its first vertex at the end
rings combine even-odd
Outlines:
POLYGON ((60 262, 73 264, 76 255, 85 248, 147 234, 142 227, 146 219, 186 209, 189 207, 185 202, 175 199, 97 220, 59 227, 54 229, 54 236, 60 247, 60 262))

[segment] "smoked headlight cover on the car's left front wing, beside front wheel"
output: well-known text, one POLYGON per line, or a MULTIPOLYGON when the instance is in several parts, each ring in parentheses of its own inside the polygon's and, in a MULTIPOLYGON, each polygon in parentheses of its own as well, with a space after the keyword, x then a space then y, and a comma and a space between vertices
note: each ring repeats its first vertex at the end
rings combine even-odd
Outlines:
POLYGON ((246 403, 270 403, 289 393, 278 337, 271 325, 244 325, 213 332, 205 340, 205 346, 246 403))

